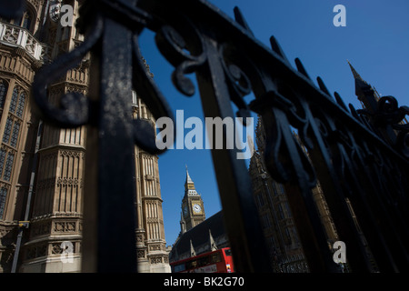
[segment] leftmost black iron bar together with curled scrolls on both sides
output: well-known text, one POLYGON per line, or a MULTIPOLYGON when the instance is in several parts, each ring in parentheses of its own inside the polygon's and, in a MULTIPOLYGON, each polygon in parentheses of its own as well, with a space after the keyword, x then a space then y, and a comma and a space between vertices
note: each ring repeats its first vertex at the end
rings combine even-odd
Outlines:
POLYGON ((173 119, 140 53, 138 36, 149 25, 154 25, 153 17, 135 7, 135 1, 85 1, 77 21, 84 43, 35 75, 33 101, 45 122, 59 127, 87 125, 85 272, 137 270, 135 145, 153 155, 165 149, 156 147, 151 122, 132 118, 132 91, 155 119, 173 119), (48 85, 88 53, 93 70, 88 96, 69 93, 59 101, 48 100, 48 85))

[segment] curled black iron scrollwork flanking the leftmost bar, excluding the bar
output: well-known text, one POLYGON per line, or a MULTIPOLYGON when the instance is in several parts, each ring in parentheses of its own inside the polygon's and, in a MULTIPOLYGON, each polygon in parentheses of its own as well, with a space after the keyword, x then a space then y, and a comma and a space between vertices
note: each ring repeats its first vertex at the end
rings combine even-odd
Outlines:
MULTIPOLYGON (((97 118, 98 105, 91 102, 85 95, 71 92, 60 98, 59 105, 52 104, 46 96, 47 85, 52 84, 61 75, 65 74, 70 68, 85 57, 85 55, 94 50, 98 41, 101 41, 104 31, 104 16, 109 10, 110 17, 120 19, 124 23, 133 23, 135 25, 146 25, 151 21, 150 17, 135 7, 125 5, 125 3, 112 3, 111 1, 101 1, 94 3, 86 2, 80 9, 81 17, 78 19, 79 29, 85 33, 85 41, 78 45, 73 51, 55 59, 50 65, 45 65, 35 75, 33 95, 35 104, 40 110, 45 121, 52 125, 60 127, 77 127, 87 123, 95 124, 97 118), (96 14, 95 11, 97 11, 96 14), (93 15, 90 15, 93 13, 93 15), (93 19, 93 24, 85 28, 84 19, 93 19)), ((140 31, 139 31, 140 32, 140 31)), ((143 57, 140 54, 138 44, 138 33, 135 33, 134 47, 134 85, 138 88, 138 95, 145 101, 155 118, 167 116, 173 119, 165 98, 160 93, 158 87, 151 80, 152 76, 146 71, 143 57), (136 85, 140 83, 141 85, 136 85)), ((184 68, 185 69, 185 68, 184 68)), ((158 150, 155 146, 155 132, 152 125, 145 120, 136 119, 133 121, 135 131, 135 143, 151 154, 158 154, 163 150, 158 150), (137 134, 136 134, 137 133, 137 134), (142 135, 141 135, 142 133, 142 135), (154 134, 153 134, 154 133, 154 134), (143 137, 142 137, 143 136, 143 137)))

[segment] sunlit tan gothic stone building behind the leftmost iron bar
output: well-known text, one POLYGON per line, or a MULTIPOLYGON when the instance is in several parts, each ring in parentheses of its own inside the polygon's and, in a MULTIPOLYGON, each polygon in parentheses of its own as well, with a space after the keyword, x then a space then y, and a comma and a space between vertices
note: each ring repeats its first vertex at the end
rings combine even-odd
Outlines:
MULTIPOLYGON (((35 72, 83 41, 58 19, 61 5, 71 5, 75 23, 81 1, 60 2, 28 0, 21 19, 0 19, 0 272, 81 271, 86 130, 45 125, 29 102, 35 72), (61 260, 65 246, 69 264, 61 260)), ((50 85, 50 100, 86 95, 89 63, 86 56, 50 85)), ((129 97, 130 114, 154 124, 137 95, 129 97)), ((135 147, 135 170, 139 271, 168 272, 157 156, 135 147)))

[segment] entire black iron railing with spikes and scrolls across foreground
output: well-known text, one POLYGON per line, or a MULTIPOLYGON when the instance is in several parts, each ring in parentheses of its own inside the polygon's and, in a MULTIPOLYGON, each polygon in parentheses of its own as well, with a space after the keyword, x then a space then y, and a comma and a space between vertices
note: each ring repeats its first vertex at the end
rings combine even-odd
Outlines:
MULTIPOLYGON (((195 93, 185 76, 195 72, 206 117, 247 116, 251 110, 262 116, 264 159, 271 176, 285 186, 311 271, 338 271, 314 204, 317 180, 348 247, 351 270, 369 271, 371 263, 346 198, 380 271, 407 271, 409 128, 401 121, 408 108, 390 96, 381 98, 375 112, 348 108, 320 78, 314 85, 300 60, 294 69, 274 37, 271 49, 265 47, 238 9, 234 15, 235 21, 205 0, 85 0, 78 23, 86 35, 84 44, 37 73, 33 92, 45 121, 89 127, 84 271, 136 270, 132 152, 135 144, 158 151, 149 125, 127 114, 131 90, 156 119, 172 117, 142 61, 138 36, 144 29, 155 32, 159 50, 175 66, 175 86, 184 95, 195 93), (90 94, 65 95, 60 107, 50 105, 46 85, 89 51, 90 94), (243 97, 251 92, 255 100, 248 105, 243 97)), ((270 271, 251 181, 236 153, 212 151, 234 264, 239 272, 270 271)))

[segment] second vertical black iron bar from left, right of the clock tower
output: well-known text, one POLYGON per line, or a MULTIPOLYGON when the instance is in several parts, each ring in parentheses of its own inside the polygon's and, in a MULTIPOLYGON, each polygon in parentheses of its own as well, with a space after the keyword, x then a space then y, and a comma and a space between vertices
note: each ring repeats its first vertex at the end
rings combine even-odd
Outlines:
MULTIPOLYGON (((205 116, 233 118, 230 95, 217 47, 210 38, 204 38, 208 66, 201 67, 196 76, 205 116)), ((226 138, 225 130, 223 138, 226 138)), ((244 160, 237 159, 237 152, 237 149, 212 150, 234 266, 237 272, 272 272, 263 229, 254 204, 250 176, 244 160)))

